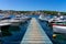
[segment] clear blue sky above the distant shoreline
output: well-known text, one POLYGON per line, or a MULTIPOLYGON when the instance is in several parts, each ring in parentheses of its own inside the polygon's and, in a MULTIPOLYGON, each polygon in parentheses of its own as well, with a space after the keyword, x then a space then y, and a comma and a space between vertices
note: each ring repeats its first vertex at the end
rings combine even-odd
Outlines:
POLYGON ((66 0, 0 0, 0 10, 66 12, 66 0))

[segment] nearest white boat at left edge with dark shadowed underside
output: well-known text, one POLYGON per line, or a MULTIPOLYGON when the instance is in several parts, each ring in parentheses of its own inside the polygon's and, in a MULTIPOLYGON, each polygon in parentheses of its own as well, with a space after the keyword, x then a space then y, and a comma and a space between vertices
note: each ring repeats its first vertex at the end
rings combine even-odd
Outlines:
POLYGON ((2 35, 10 35, 11 33, 9 32, 11 23, 7 22, 0 22, 0 36, 2 35))

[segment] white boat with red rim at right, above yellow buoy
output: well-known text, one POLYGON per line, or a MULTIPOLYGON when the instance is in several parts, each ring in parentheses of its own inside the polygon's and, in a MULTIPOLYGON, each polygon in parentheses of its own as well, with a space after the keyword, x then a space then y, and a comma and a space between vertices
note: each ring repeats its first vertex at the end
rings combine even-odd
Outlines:
POLYGON ((53 23, 54 33, 66 33, 66 22, 65 23, 53 23))

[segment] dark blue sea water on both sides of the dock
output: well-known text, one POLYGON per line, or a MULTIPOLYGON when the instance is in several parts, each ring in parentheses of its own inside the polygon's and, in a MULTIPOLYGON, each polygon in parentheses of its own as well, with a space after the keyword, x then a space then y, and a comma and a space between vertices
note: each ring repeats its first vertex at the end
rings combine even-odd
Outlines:
MULTIPOLYGON (((53 40, 52 35, 53 35, 53 29, 51 26, 48 26, 47 22, 41 22, 38 20, 38 15, 30 15, 31 18, 36 18, 36 20, 38 21, 40 25, 43 28, 43 30, 45 31, 45 33, 47 34, 47 36, 50 37, 50 40, 54 43, 54 44, 65 44, 66 40, 58 38, 62 35, 58 35, 57 38, 53 40), (61 41, 59 41, 61 40, 61 41)), ((51 18, 53 15, 50 15, 51 18)), ((11 15, 11 18, 14 18, 14 15, 11 15)), ((20 42, 23 38, 23 35, 26 32, 28 25, 29 25, 30 21, 28 21, 26 23, 22 23, 19 26, 10 26, 9 32, 11 33, 11 35, 8 36, 2 36, 1 37, 1 42, 2 44, 20 44, 20 42)))

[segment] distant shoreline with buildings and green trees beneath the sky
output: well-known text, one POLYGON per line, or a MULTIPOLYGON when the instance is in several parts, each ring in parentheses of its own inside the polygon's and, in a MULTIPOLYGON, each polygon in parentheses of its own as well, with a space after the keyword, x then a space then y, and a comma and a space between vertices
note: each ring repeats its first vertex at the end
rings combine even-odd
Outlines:
MULTIPOLYGON (((59 11, 47 11, 47 10, 37 10, 37 11, 15 11, 15 10, 0 10, 0 13, 9 13, 9 14, 53 14, 56 15, 59 11)), ((59 12, 63 15, 66 15, 66 12, 59 12)))

